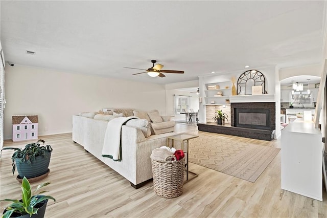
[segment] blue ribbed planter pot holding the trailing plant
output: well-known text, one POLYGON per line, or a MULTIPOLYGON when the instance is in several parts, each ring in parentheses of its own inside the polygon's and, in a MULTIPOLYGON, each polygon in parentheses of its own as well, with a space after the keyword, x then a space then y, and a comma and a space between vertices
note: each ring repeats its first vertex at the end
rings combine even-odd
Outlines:
POLYGON ((20 163, 20 159, 16 158, 15 162, 19 177, 26 177, 27 179, 29 179, 45 174, 46 172, 48 172, 50 158, 51 152, 49 152, 48 158, 38 156, 35 158, 35 161, 31 161, 31 164, 27 162, 20 163))

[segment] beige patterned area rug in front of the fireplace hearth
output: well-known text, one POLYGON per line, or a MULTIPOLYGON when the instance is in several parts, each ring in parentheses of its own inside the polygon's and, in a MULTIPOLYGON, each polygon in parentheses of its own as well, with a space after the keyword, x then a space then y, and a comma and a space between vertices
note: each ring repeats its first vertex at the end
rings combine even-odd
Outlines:
POLYGON ((236 142, 219 134, 201 133, 189 141, 189 161, 255 182, 279 148, 236 142))

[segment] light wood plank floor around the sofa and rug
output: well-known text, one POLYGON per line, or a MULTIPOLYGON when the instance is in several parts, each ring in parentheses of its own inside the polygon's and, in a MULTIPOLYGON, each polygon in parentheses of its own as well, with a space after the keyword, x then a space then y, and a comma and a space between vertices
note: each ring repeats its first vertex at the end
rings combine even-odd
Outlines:
MULTIPOLYGON (((193 127, 190 132, 197 130, 193 127)), ((54 149, 51 172, 42 182, 52 182, 45 190, 57 202, 49 201, 45 217, 327 217, 325 190, 324 202, 320 202, 281 189, 281 152, 255 183, 191 163, 190 170, 199 176, 184 184, 180 197, 164 199, 153 192, 152 182, 132 188, 126 179, 74 144, 71 134, 40 138, 54 149)), ((280 147, 279 140, 230 139, 280 147)), ((5 146, 24 147, 27 143, 5 141, 5 146)), ((4 150, 0 158, 0 199, 20 198, 17 172, 14 176, 11 172, 12 152, 4 150)), ((0 202, 0 207, 7 204, 0 202)))

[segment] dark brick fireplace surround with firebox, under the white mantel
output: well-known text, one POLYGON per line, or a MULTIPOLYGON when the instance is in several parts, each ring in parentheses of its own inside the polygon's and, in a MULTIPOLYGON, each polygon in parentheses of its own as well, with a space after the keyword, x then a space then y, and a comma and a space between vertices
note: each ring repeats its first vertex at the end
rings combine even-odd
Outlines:
POLYGON ((230 104, 231 126, 275 130, 275 102, 230 104))

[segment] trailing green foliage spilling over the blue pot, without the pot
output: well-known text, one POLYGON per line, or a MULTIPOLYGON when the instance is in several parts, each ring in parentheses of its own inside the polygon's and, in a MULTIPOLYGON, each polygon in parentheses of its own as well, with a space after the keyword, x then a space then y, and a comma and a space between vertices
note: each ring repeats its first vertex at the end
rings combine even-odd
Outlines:
POLYGON ((16 148, 16 147, 5 147, 3 150, 15 150, 14 154, 11 156, 12 160, 12 173, 15 172, 16 163, 15 159, 20 159, 20 163, 27 162, 31 164, 31 161, 35 161, 35 158, 38 156, 43 156, 44 158, 48 158, 49 153, 52 151, 52 147, 50 145, 45 145, 44 140, 40 139, 36 143, 27 144, 24 149, 16 148), (42 142, 42 146, 39 142, 42 142))

